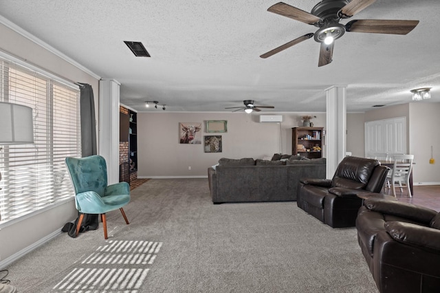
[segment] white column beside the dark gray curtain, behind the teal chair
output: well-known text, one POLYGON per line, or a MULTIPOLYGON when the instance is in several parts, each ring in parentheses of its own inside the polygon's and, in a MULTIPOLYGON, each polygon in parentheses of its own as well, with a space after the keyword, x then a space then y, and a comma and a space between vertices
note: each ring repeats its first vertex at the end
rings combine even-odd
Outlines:
POLYGON ((116 80, 99 83, 99 151, 107 163, 107 181, 119 182, 119 91, 116 80))

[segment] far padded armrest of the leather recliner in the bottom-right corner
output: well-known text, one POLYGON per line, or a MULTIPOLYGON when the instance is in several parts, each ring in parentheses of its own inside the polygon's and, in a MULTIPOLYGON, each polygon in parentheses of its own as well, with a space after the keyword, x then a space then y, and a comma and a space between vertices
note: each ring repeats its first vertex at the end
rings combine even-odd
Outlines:
POLYGON ((364 206, 369 210, 387 215, 395 215, 406 219, 412 219, 429 225, 431 219, 437 215, 435 210, 423 206, 415 206, 406 202, 392 200, 365 199, 364 206))

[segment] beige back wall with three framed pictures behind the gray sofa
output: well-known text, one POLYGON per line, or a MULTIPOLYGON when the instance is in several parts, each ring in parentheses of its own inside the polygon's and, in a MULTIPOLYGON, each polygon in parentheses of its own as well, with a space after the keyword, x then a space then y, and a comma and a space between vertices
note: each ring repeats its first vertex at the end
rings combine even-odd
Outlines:
POLYGON ((325 127, 325 113, 137 113, 137 177, 206 177, 208 167, 220 158, 292 154, 292 127, 302 126, 300 117, 306 114, 316 116, 315 127, 325 127), (283 115, 281 127, 260 123, 259 116, 267 114, 283 115), (228 132, 206 133, 207 120, 227 120, 228 132), (180 144, 179 122, 201 122, 202 144, 180 144), (205 153, 205 135, 221 135, 223 152, 205 153))

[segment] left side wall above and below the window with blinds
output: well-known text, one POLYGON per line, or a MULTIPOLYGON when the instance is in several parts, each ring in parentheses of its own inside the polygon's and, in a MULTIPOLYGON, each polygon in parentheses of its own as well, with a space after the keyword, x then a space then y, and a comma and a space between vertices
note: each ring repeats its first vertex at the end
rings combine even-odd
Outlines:
MULTIPOLYGON (((95 94, 98 95, 98 79, 84 70, 68 63, 50 52, 41 45, 26 39, 23 35, 14 32, 0 23, 0 50, 12 52, 20 58, 28 60, 39 67, 63 76, 69 80, 80 83, 89 83, 95 94)), ((96 104, 98 109, 98 104, 96 104)), ((98 117, 98 114, 97 114, 98 117)), ((54 235, 61 230, 67 221, 76 218, 74 201, 67 202, 56 208, 45 209, 32 217, 18 219, 7 224, 0 224, 0 268, 13 261, 24 253, 41 243, 42 239, 54 235)))

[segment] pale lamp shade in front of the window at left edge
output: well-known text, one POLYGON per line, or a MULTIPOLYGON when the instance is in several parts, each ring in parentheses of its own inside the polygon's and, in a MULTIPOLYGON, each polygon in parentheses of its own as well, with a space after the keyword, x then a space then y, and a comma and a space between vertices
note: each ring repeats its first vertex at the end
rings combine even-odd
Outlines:
POLYGON ((32 108, 0 102, 0 145, 33 143, 32 108))

